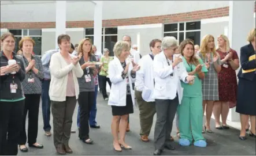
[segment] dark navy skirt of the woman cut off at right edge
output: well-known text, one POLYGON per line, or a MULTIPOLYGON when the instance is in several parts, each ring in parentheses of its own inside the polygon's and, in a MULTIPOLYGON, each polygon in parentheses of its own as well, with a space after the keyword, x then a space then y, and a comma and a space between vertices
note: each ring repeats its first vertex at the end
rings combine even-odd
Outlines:
POLYGON ((236 112, 243 115, 256 115, 256 75, 253 81, 239 78, 236 112))

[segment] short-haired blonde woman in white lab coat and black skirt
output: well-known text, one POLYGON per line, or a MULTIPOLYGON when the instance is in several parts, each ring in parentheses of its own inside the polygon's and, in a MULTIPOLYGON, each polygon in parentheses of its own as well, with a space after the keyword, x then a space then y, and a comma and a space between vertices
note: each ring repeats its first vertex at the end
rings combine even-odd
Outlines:
POLYGON ((132 83, 135 82, 136 71, 140 69, 139 65, 132 66, 127 60, 129 55, 129 43, 127 41, 117 41, 114 45, 114 60, 109 63, 109 79, 112 82, 109 102, 112 106, 112 135, 114 138, 114 150, 122 151, 124 149, 132 149, 125 143, 125 132, 128 123, 128 115, 133 113, 133 105, 135 104, 134 90, 132 83), (119 138, 118 138, 118 127, 119 138), (121 145, 121 147, 120 147, 121 145))

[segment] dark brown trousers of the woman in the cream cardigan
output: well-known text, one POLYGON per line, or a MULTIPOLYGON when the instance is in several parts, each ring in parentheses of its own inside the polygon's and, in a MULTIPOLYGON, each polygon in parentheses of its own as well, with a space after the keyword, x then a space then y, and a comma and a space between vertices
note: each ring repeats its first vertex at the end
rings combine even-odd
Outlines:
POLYGON ((76 107, 76 97, 66 97, 66 101, 51 101, 53 113, 53 142, 68 145, 71 138, 72 117, 76 107))

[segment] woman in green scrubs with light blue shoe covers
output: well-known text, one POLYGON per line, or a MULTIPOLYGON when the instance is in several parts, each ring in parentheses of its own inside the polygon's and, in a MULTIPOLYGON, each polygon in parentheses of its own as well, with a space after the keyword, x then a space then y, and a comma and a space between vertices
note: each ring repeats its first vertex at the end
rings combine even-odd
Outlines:
POLYGON ((181 82, 183 98, 178 106, 179 128, 181 146, 190 146, 194 140, 194 146, 206 147, 207 143, 202 135, 203 124, 203 99, 202 82, 207 69, 203 61, 194 55, 194 44, 186 39, 180 44, 179 50, 183 56, 183 63, 188 75, 195 75, 192 83, 181 82))

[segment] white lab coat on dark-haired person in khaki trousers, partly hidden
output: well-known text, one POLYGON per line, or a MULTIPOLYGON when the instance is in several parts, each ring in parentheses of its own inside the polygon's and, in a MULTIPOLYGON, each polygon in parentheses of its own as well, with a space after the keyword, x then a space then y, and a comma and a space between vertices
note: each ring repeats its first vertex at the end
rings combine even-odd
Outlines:
POLYGON ((155 100, 152 98, 154 91, 153 60, 150 55, 144 55, 138 64, 140 70, 136 72, 136 90, 142 92, 143 100, 154 102, 155 100))

